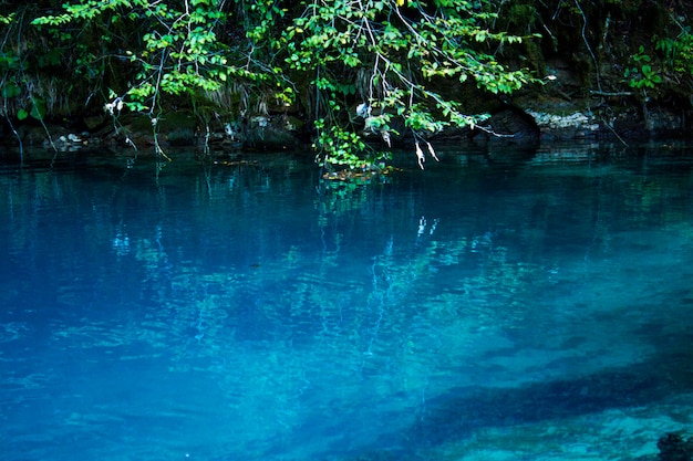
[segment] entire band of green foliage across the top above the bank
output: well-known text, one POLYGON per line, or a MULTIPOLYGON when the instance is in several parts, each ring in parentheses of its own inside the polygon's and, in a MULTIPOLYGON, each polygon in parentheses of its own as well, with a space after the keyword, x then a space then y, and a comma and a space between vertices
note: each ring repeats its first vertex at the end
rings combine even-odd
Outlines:
MULTIPOLYGON (((436 134, 486 129, 486 115, 470 114, 459 94, 477 87, 506 95, 536 82, 517 63, 541 74, 548 41, 566 55, 589 52, 585 72, 599 74, 608 55, 628 60, 635 51, 625 46, 642 24, 628 18, 648 6, 665 27, 656 25, 659 34, 628 64, 614 59, 625 67, 621 85, 645 101, 672 93, 684 101, 693 90, 691 10, 681 2, 14 3, 14 11, 12 2, 0 8, 0 115, 8 121, 105 107, 114 119, 125 111, 147 115, 156 134, 162 113, 174 107, 192 107, 205 124, 239 126, 291 109, 313 123, 317 158, 329 170, 377 169, 402 137, 414 140, 423 166, 422 157, 435 157, 426 142, 436 134), (546 40, 538 43, 535 32, 546 40)), ((599 75, 596 83, 601 90, 599 75)))

